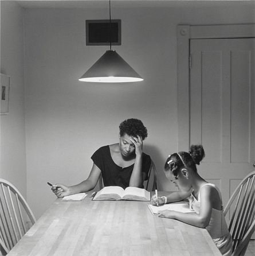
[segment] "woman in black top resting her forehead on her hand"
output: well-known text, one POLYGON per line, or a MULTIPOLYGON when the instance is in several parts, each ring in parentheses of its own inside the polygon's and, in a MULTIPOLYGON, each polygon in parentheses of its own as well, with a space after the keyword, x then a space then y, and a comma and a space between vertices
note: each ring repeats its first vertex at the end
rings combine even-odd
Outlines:
POLYGON ((52 191, 57 197, 91 191, 101 173, 105 186, 143 187, 151 165, 150 156, 143 153, 147 129, 142 121, 135 118, 121 122, 119 129, 119 143, 103 146, 91 157, 93 166, 87 180, 71 187, 53 185, 52 191))

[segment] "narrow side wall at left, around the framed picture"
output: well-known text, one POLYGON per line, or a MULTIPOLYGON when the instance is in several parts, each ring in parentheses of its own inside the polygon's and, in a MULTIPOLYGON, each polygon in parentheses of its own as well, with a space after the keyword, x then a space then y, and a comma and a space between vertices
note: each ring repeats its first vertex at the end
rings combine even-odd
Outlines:
POLYGON ((1 73, 10 76, 10 113, 0 116, 0 178, 13 183, 26 197, 23 63, 23 9, 15 1, 1 1, 1 73))

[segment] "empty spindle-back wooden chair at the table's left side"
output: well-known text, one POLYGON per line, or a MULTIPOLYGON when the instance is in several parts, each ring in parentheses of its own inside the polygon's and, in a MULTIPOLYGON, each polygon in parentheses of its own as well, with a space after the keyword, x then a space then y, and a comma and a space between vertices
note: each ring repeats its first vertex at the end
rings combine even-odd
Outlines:
POLYGON ((36 223, 28 203, 9 181, 0 179, 0 245, 6 253, 36 223))

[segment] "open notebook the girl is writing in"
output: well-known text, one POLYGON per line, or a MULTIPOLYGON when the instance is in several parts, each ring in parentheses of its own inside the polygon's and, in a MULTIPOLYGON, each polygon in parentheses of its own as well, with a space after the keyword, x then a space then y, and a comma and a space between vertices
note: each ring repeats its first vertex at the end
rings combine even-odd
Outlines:
POLYGON ((190 210, 189 203, 185 201, 180 201, 178 203, 170 203, 170 204, 162 204, 159 206, 148 204, 148 208, 150 209, 153 215, 159 214, 158 211, 171 210, 176 212, 195 212, 194 210, 190 210))

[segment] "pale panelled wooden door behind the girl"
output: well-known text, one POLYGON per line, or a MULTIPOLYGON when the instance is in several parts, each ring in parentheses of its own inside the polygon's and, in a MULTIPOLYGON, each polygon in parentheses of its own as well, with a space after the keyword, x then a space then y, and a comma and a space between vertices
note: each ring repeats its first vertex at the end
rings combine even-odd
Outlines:
POLYGON ((254 170, 254 38, 190 40, 190 56, 190 144, 204 146, 199 173, 226 205, 254 170))

